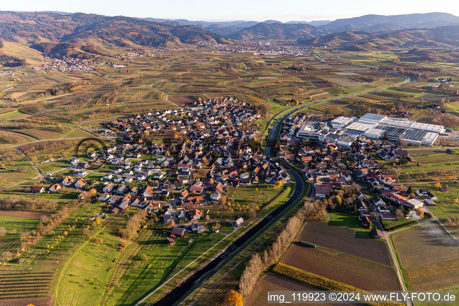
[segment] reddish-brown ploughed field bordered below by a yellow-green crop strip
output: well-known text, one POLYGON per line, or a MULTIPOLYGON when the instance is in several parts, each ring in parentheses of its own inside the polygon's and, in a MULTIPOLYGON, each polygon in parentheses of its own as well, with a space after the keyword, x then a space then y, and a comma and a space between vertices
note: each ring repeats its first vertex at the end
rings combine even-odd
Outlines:
POLYGON ((289 266, 364 290, 398 290, 392 267, 322 247, 294 243, 280 260, 289 266))

